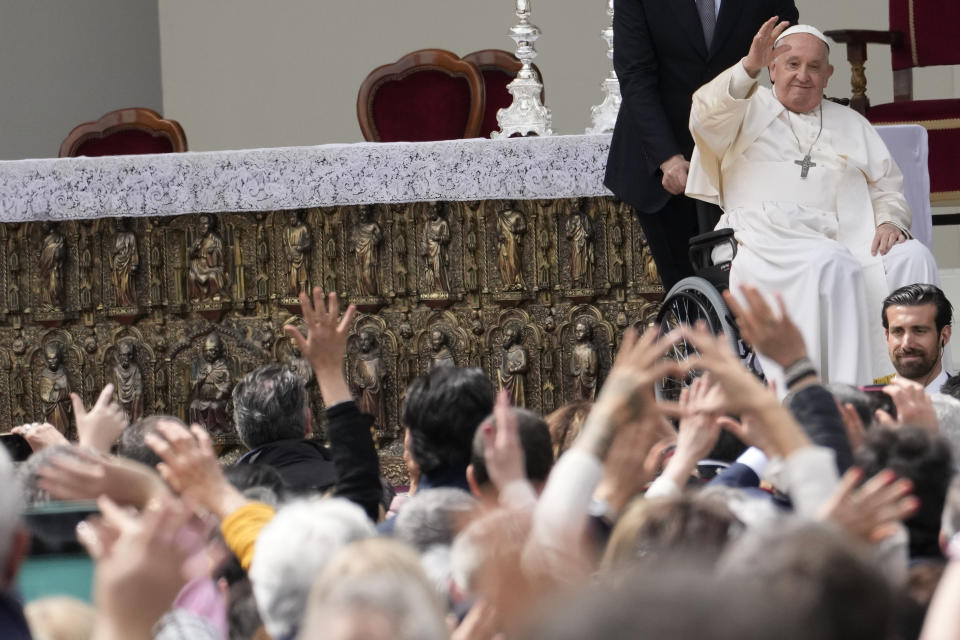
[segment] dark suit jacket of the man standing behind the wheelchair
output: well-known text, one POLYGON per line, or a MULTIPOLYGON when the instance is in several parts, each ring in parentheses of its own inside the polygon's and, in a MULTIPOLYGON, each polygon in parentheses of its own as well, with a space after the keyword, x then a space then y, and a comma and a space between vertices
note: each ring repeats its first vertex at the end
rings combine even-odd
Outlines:
POLYGON ((796 23, 797 9, 793 0, 722 0, 709 51, 695 0, 615 0, 614 10, 623 103, 604 182, 638 211, 655 213, 670 198, 660 164, 693 152, 693 92, 745 56, 764 21, 796 23))

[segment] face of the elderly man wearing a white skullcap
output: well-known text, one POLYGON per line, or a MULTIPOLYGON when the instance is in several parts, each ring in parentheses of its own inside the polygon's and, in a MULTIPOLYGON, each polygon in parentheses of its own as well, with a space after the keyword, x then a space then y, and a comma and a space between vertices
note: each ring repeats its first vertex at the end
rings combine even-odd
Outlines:
POLYGON ((795 33, 780 41, 790 51, 770 65, 770 79, 780 102, 790 111, 807 113, 823 99, 823 90, 833 75, 827 45, 809 33, 795 33))

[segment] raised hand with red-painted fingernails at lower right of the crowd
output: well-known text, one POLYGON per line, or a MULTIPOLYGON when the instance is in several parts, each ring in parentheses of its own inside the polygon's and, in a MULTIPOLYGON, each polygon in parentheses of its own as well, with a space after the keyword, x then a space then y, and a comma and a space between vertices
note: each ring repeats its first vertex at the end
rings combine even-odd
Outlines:
POLYGON ((913 484, 897 480, 890 470, 883 470, 861 487, 863 472, 849 469, 840 480, 833 496, 818 514, 820 520, 831 520, 850 535, 873 544, 896 531, 896 525, 920 506, 910 495, 913 484))

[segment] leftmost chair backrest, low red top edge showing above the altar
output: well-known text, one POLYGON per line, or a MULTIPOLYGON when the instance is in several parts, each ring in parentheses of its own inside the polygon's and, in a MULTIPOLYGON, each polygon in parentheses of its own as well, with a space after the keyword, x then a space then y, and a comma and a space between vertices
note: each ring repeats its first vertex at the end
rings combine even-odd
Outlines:
POLYGON ((60 145, 61 158, 175 153, 187 150, 187 136, 176 120, 152 109, 117 109, 74 127, 60 145))

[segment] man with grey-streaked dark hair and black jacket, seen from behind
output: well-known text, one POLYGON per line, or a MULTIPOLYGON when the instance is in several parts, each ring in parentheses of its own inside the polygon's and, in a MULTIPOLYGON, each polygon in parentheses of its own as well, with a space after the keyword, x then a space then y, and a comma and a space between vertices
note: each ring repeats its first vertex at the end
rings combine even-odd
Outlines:
POLYGON ((234 423, 250 451, 237 464, 265 464, 293 493, 323 492, 337 481, 330 454, 310 438, 312 414, 303 379, 283 365, 254 369, 233 389, 234 423))

